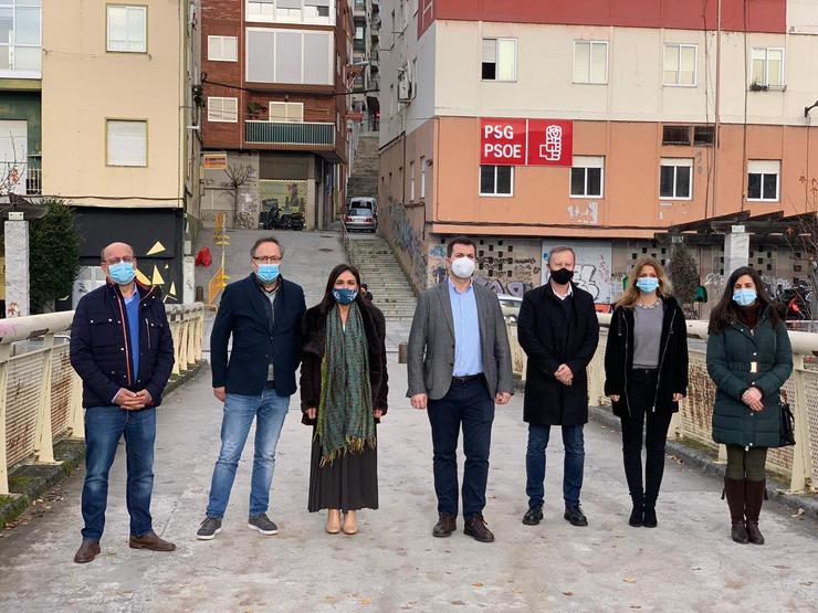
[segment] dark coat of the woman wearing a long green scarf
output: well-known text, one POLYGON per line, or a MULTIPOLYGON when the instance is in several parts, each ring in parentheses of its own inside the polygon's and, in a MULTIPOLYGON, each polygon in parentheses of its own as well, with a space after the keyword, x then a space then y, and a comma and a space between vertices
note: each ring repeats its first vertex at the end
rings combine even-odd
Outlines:
MULTIPOLYGON (((358 296, 356 304, 364 320, 369 349, 369 384, 373 390, 373 409, 387 412, 389 395, 389 377, 386 368, 386 319, 384 314, 370 300, 358 296)), ((332 311, 331 311, 332 313, 332 311)), ((302 423, 314 425, 316 420, 306 416, 306 410, 318 408, 321 402, 321 362, 326 347, 326 314, 318 306, 307 309, 304 315, 301 353, 301 410, 304 412, 302 423)), ((379 420, 375 420, 376 423, 379 420)))

